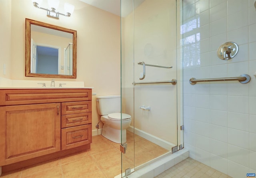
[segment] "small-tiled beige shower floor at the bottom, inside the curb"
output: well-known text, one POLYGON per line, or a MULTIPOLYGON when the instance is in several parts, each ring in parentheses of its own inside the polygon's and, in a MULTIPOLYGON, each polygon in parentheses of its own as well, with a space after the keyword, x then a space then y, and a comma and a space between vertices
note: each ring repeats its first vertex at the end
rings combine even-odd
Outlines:
POLYGON ((232 178, 192 158, 186 158, 156 178, 232 178))

